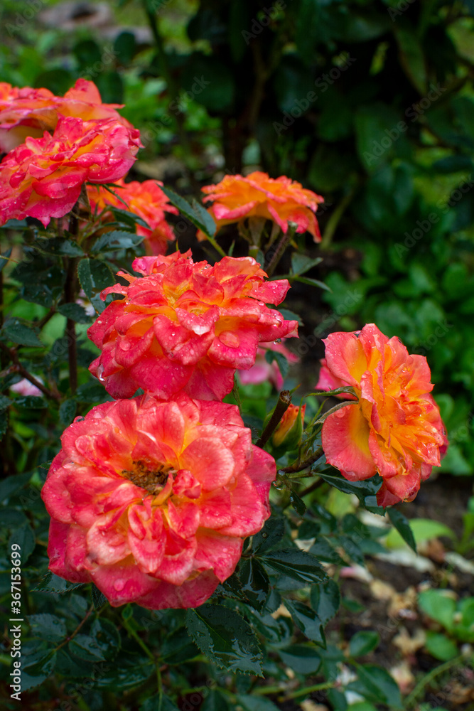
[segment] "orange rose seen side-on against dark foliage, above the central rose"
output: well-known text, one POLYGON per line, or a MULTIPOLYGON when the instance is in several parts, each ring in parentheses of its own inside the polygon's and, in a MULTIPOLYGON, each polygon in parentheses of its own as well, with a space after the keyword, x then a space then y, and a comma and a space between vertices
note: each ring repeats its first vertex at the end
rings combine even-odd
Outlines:
MULTIPOLYGON (((208 211, 217 230, 245 218, 260 217, 273 220, 282 232, 288 230, 289 222, 296 223, 296 232, 308 230, 315 242, 321 242, 314 213, 323 198, 286 176, 275 180, 260 171, 248 176, 226 175, 217 185, 201 189, 205 193, 203 202, 213 203, 208 211)), ((198 239, 205 239, 205 235, 198 232, 198 239)))

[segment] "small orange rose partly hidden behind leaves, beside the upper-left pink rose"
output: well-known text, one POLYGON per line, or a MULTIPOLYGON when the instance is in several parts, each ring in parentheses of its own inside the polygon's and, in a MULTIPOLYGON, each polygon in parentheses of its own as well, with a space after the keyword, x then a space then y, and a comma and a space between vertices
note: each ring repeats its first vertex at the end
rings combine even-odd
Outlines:
MULTIPOLYGON (((168 201, 160 186, 160 181, 146 180, 143 183, 132 181, 125 183, 117 181, 116 196, 101 186, 87 186, 87 196, 90 200, 92 212, 104 212, 107 215, 107 206, 129 211, 145 220, 149 228, 136 225, 136 234, 145 237, 146 252, 149 255, 164 255, 168 242, 173 242, 176 237, 165 219, 165 212, 178 215, 178 210, 168 201)), ((114 186, 110 186, 114 188, 114 186)))

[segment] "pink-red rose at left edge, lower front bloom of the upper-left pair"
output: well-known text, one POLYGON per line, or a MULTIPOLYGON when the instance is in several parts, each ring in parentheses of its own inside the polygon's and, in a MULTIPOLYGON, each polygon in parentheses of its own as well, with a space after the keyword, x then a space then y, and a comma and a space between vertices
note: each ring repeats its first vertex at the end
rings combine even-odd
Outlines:
POLYGON ((61 118, 53 136, 27 138, 0 163, 0 224, 27 215, 41 220, 66 215, 82 183, 122 178, 136 160, 139 131, 116 121, 61 118))

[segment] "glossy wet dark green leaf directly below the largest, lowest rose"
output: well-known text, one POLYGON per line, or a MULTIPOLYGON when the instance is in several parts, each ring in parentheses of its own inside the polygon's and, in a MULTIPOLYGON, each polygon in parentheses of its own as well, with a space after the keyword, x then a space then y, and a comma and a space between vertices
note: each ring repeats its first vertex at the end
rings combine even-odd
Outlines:
POLYGON ((262 676, 262 651, 252 627, 234 610, 204 604, 186 613, 186 627, 210 661, 229 672, 262 676))

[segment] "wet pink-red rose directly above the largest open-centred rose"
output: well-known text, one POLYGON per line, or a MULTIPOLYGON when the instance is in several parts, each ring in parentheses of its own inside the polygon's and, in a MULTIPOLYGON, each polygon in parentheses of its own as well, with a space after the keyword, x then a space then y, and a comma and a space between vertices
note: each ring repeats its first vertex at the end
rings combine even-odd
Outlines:
POLYGON ((87 334, 101 349, 90 371, 112 397, 131 397, 138 387, 166 399, 185 388, 191 397, 222 400, 237 368, 251 368, 259 343, 295 335, 266 303, 279 304, 286 279, 264 282, 252 257, 224 257, 213 267, 194 263, 190 251, 141 257, 141 278, 119 272, 129 285, 104 289, 123 294, 112 301, 87 334))

